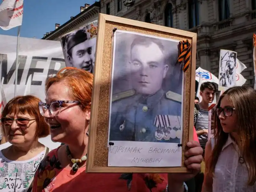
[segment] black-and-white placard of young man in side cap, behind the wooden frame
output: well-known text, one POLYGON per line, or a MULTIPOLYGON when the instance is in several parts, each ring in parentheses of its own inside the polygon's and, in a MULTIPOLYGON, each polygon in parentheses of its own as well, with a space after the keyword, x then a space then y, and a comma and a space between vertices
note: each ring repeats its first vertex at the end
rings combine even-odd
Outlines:
POLYGON ((93 21, 61 37, 67 67, 94 72, 98 21, 93 21))

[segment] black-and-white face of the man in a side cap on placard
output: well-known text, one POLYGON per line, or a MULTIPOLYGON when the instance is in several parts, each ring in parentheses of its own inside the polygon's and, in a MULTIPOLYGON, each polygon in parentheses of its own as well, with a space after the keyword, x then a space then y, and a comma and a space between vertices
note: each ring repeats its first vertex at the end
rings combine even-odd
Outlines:
POLYGON ((92 45, 89 40, 86 40, 72 48, 70 61, 73 67, 91 72, 93 57, 92 45))

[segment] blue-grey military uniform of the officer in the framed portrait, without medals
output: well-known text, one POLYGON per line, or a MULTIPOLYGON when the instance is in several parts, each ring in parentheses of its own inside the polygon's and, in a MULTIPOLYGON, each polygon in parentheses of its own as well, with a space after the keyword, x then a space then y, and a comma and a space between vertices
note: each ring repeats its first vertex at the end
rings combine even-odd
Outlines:
MULTIPOLYGON (((158 115, 180 117, 181 95, 162 89, 146 98, 135 90, 113 95, 109 140, 163 142, 155 136, 154 121, 158 115)), ((180 139, 164 142, 179 143, 180 139)))

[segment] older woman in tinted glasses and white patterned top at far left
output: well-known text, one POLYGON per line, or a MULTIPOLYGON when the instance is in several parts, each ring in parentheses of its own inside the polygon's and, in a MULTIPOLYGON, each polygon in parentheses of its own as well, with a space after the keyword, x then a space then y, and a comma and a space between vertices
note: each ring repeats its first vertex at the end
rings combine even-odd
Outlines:
POLYGON ((18 96, 5 106, 1 126, 11 146, 0 151, 1 192, 32 190, 36 169, 49 152, 38 138, 50 134, 34 96, 18 96))

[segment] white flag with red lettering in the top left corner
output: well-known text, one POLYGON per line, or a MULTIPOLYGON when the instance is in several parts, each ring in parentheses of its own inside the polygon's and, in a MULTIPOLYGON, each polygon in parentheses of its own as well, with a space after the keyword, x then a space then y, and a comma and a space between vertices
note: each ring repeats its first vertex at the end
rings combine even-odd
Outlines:
POLYGON ((22 24, 23 0, 4 0, 0 4, 0 27, 8 30, 22 24))

